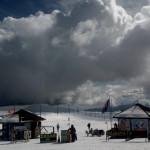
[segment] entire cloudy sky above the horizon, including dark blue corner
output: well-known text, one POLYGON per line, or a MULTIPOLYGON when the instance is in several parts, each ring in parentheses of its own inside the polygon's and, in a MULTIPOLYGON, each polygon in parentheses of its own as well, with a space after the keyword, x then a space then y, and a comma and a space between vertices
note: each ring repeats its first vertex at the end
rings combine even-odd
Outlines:
POLYGON ((149 64, 149 0, 0 1, 0 105, 149 102, 149 64))

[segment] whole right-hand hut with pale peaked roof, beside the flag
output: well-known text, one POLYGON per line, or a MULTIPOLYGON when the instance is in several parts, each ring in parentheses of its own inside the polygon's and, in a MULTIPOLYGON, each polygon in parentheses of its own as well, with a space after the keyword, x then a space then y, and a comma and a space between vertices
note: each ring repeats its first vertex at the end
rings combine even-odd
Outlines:
POLYGON ((130 108, 116 114, 118 124, 107 131, 110 138, 133 138, 150 139, 150 108, 141 104, 135 104, 130 108))

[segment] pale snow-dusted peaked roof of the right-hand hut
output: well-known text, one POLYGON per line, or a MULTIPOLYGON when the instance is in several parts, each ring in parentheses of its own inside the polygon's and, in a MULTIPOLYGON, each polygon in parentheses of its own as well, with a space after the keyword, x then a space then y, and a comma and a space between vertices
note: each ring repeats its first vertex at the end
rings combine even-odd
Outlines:
POLYGON ((130 108, 114 115, 113 118, 147 119, 150 118, 150 108, 141 104, 135 104, 130 108))

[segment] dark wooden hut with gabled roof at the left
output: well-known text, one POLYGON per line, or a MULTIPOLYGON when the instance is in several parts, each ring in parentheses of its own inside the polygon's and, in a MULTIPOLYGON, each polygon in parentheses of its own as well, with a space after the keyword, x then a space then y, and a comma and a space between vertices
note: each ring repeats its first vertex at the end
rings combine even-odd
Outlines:
POLYGON ((0 123, 2 124, 2 140, 24 139, 25 131, 30 131, 30 138, 36 138, 40 134, 41 121, 44 118, 24 109, 14 112, 11 115, 4 116, 0 123))

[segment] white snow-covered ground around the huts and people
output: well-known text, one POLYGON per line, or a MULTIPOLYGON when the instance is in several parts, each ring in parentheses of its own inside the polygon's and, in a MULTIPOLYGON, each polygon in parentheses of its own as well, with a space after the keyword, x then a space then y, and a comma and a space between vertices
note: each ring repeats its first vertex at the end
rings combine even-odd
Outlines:
POLYGON ((93 129, 110 128, 110 123, 107 123, 103 118, 91 113, 73 113, 73 114, 42 114, 47 120, 42 125, 53 125, 56 127, 57 123, 60 125, 60 130, 68 129, 69 122, 74 124, 78 140, 74 143, 40 143, 40 139, 33 139, 25 143, 24 141, 17 141, 15 144, 11 142, 0 142, 0 150, 149 150, 150 142, 146 139, 134 139, 126 142, 125 140, 109 140, 106 142, 105 135, 102 137, 87 137, 85 130, 87 130, 87 123, 91 123, 93 129), (70 120, 70 121, 69 121, 70 120))

